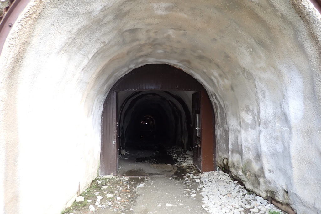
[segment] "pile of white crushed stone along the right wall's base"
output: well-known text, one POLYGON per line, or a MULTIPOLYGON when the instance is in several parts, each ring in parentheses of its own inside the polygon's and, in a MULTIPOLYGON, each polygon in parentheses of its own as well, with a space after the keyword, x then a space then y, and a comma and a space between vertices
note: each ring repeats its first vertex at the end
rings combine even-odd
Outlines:
MULTIPOLYGON (((187 174, 188 176, 188 174, 187 174)), ((251 213, 268 213, 270 210, 283 211, 274 207, 268 201, 255 194, 248 194, 244 186, 223 173, 222 171, 211 171, 200 174, 200 185, 202 189, 203 209, 209 213, 224 214, 238 213, 247 214, 243 210, 250 209, 251 213)), ((196 181, 196 179, 195 179, 196 181)))

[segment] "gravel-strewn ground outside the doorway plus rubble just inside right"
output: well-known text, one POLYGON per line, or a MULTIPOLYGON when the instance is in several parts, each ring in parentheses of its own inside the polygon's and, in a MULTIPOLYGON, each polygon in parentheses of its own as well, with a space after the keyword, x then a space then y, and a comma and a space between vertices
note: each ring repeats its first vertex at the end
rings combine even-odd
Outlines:
POLYGON ((186 176, 97 177, 63 214, 285 214, 222 171, 199 173, 190 152, 169 150, 186 176))

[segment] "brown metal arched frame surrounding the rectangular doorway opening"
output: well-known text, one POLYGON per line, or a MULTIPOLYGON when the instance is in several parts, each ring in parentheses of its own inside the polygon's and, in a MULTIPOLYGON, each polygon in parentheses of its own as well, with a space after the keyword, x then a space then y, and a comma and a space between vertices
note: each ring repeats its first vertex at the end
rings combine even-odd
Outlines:
POLYGON ((204 87, 181 69, 167 64, 147 64, 120 78, 110 89, 101 116, 100 175, 116 175, 118 169, 118 91, 200 91, 201 171, 216 169, 215 118, 204 87), (175 78, 173 78, 175 77, 175 78))

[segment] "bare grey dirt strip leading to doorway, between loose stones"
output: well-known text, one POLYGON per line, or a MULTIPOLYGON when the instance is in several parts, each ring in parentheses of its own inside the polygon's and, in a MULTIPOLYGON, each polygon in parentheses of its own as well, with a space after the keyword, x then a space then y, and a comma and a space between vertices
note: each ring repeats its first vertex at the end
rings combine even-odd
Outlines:
POLYGON ((136 190, 139 196, 133 213, 206 213, 196 188, 194 180, 188 178, 152 177, 136 190))

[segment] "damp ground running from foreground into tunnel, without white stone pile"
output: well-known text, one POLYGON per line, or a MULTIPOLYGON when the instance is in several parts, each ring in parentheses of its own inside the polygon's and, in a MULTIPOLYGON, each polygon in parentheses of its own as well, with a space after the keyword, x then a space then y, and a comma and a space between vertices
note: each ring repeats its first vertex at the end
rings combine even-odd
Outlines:
POLYGON ((205 213, 198 184, 185 176, 198 170, 176 160, 184 155, 181 148, 155 144, 127 148, 118 175, 97 177, 80 195, 84 200, 62 213, 205 213))

